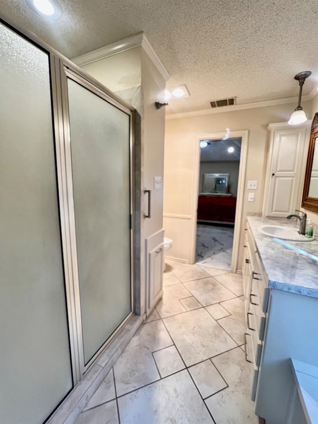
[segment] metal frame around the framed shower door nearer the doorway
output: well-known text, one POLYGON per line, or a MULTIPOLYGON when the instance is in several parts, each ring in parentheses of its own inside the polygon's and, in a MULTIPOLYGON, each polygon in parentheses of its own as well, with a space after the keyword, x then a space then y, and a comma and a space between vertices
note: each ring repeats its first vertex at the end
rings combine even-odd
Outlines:
POLYGON ((57 174, 59 181, 59 197, 61 210, 61 227, 63 255, 65 263, 66 293, 69 314, 69 331, 72 357, 72 369, 75 384, 79 382, 81 376, 94 363, 107 344, 114 339, 118 332, 123 328, 134 312, 133 296, 133 246, 134 231, 133 225, 130 228, 130 290, 131 290, 131 312, 122 321, 119 327, 114 330, 111 336, 105 340, 97 352, 85 364, 83 351, 83 335, 80 309, 79 293, 79 269, 75 228, 75 208, 73 195, 73 175, 72 175, 72 156, 71 156, 71 132, 68 104, 67 80, 70 78, 82 87, 88 89, 93 94, 106 100, 108 103, 117 107, 130 119, 130 221, 133 223, 134 210, 134 109, 126 105, 123 101, 117 99, 103 85, 85 74, 72 62, 59 58, 55 54, 50 55, 52 91, 55 87, 56 94, 53 96, 54 128, 57 145, 57 174), (63 216, 62 216, 63 215, 63 216))

